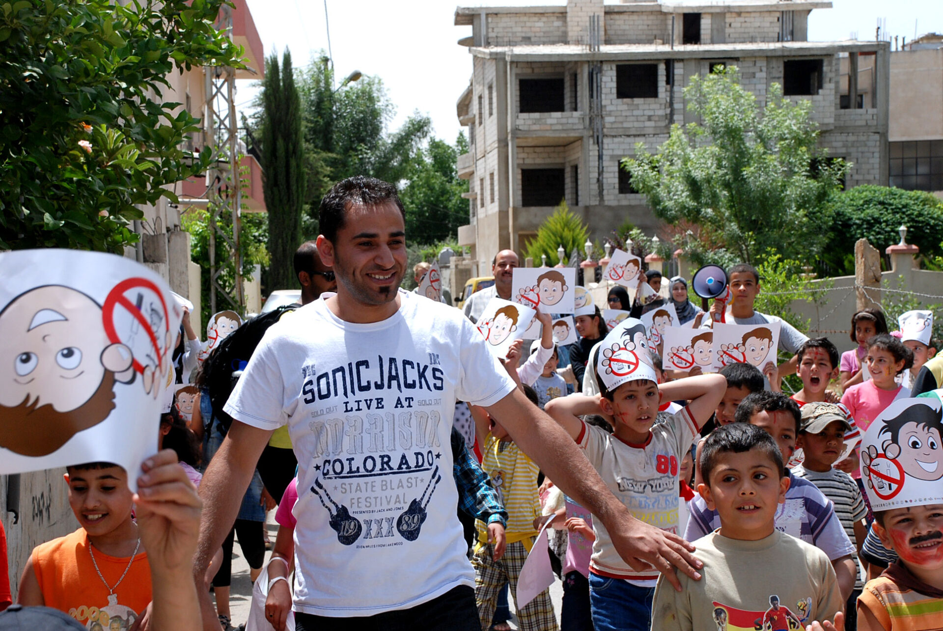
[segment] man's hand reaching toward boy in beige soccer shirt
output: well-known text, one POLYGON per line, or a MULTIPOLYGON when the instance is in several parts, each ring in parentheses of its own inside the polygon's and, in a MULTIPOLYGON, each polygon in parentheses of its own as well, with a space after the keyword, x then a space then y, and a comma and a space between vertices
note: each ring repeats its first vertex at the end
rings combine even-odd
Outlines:
POLYGON ((619 556, 636 572, 654 568, 665 574, 665 580, 677 591, 681 591, 681 582, 675 568, 701 580, 698 570, 703 563, 691 554, 694 546, 681 537, 637 520, 628 510, 618 514, 615 523, 605 522, 605 529, 619 556))

